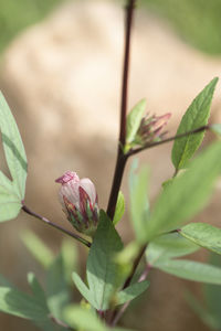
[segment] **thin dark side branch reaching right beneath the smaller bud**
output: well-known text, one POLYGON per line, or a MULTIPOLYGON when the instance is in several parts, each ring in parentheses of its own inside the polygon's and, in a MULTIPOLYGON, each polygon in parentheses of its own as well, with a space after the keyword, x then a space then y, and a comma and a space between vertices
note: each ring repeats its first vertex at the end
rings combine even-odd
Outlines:
POLYGON ((197 135, 199 132, 202 132, 202 131, 206 131, 206 130, 209 130, 209 129, 210 129, 210 126, 203 126, 203 127, 197 128, 197 129, 188 131, 188 132, 183 132, 183 134, 180 134, 180 135, 177 135, 177 136, 169 137, 165 140, 155 141, 155 142, 148 143, 146 146, 143 146, 140 148, 129 150, 128 156, 130 157, 130 156, 139 153, 140 151, 143 151, 145 149, 149 149, 149 148, 152 148, 152 147, 166 143, 166 142, 170 142, 170 141, 176 140, 176 139, 188 137, 190 135, 197 135))

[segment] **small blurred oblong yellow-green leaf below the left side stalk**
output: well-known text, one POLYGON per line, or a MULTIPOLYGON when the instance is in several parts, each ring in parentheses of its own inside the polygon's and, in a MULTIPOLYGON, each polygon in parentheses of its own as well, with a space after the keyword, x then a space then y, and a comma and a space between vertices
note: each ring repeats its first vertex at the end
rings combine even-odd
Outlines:
POLYGON ((21 238, 33 257, 40 263, 40 265, 48 269, 54 259, 49 247, 46 247, 46 245, 31 231, 22 233, 21 238))

